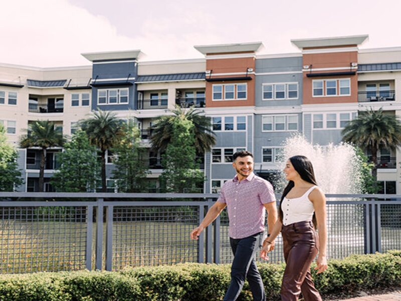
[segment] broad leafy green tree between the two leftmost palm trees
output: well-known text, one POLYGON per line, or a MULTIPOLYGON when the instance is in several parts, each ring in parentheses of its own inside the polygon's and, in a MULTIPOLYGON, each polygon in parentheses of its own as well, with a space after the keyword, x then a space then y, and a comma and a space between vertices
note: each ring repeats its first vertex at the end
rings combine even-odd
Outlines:
POLYGON ((59 155, 60 168, 51 179, 57 191, 88 192, 96 190, 100 176, 96 146, 89 143, 88 135, 81 129, 71 141, 65 143, 64 152, 59 155))

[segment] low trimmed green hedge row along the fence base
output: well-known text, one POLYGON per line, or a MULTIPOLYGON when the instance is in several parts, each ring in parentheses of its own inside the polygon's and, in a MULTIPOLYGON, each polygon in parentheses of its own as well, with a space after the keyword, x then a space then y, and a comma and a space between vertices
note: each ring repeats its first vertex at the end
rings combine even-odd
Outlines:
MULTIPOLYGON (((268 300, 280 300, 284 264, 258 264, 268 300)), ((316 275, 322 295, 401 285, 401 251, 352 255, 330 260, 316 275)), ((125 268, 119 272, 76 271, 0 275, 1 301, 222 300, 230 265, 186 263, 125 268)), ((239 300, 252 300, 246 283, 239 300)))

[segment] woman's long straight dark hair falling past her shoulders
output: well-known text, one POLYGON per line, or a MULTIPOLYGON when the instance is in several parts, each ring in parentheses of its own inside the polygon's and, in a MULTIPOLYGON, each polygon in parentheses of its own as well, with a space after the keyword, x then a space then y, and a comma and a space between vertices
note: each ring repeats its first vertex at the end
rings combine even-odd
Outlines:
MULTIPOLYGON (((313 171, 312 163, 309 161, 308 158, 306 158, 305 156, 294 156, 294 157, 291 157, 289 160, 290 160, 292 166, 294 167, 294 169, 301 176, 302 180, 317 186, 316 179, 315 179, 315 172, 313 171)), ((283 203, 283 199, 286 197, 288 192, 293 187, 294 187, 294 182, 289 181, 287 186, 284 188, 283 195, 281 196, 280 211, 279 211, 281 223, 283 223, 283 216, 284 216, 283 210, 281 209, 281 204, 283 203)), ((313 213, 312 222, 316 228, 317 222, 316 222, 316 216, 314 213, 313 213)))

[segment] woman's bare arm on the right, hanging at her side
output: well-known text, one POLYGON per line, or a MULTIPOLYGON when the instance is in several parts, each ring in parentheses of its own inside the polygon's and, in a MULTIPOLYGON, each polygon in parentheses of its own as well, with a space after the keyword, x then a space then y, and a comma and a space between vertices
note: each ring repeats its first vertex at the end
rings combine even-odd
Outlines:
POLYGON ((320 189, 314 189, 309 194, 309 199, 313 203, 316 214, 317 231, 319 233, 319 254, 317 256, 317 273, 327 269, 326 249, 327 249, 327 212, 326 197, 320 189))

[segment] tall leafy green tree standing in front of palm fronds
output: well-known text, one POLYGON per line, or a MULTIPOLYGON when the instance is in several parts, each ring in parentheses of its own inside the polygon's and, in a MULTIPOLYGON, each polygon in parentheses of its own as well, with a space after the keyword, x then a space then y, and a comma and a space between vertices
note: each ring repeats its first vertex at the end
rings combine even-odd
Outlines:
POLYGON ((197 169, 195 131, 191 120, 185 114, 172 119, 171 138, 162 156, 163 173, 160 181, 167 192, 196 192, 204 183, 202 171, 197 169))

